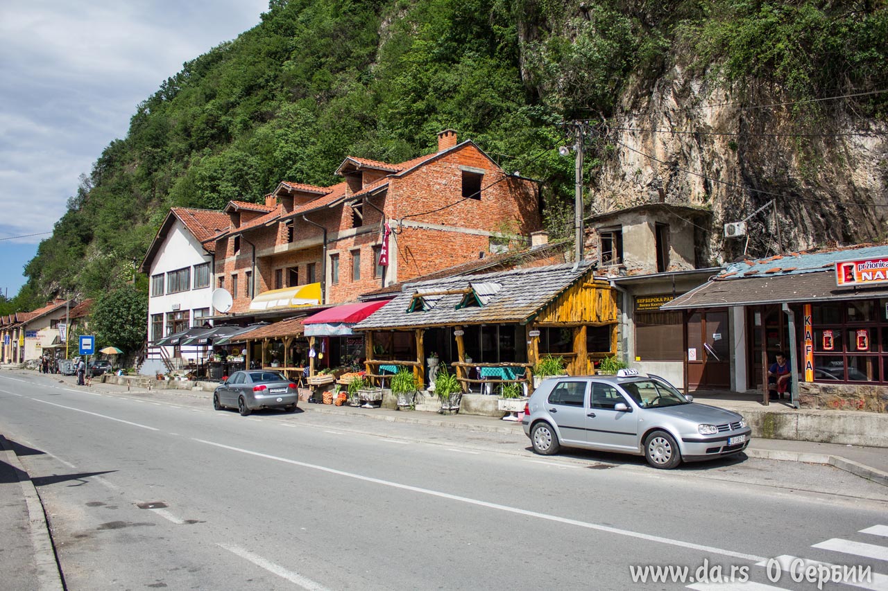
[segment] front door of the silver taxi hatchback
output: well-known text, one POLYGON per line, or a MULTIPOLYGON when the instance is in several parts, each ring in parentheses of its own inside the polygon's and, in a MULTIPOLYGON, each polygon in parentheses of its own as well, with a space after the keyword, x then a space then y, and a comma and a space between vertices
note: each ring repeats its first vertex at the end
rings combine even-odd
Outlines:
POLYGON ((591 384, 589 409, 589 443, 602 449, 638 451, 638 413, 629 400, 609 383, 591 384), (629 412, 614 410, 620 404, 629 412))

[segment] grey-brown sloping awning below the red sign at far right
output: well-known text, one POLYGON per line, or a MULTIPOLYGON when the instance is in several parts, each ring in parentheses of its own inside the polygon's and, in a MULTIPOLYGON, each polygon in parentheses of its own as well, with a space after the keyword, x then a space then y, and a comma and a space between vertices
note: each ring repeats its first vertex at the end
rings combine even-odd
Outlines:
POLYGON ((813 303, 825 300, 868 299, 888 296, 888 288, 839 288, 836 273, 808 272, 772 277, 710 280, 699 288, 660 306, 661 311, 726 308, 766 303, 813 303))

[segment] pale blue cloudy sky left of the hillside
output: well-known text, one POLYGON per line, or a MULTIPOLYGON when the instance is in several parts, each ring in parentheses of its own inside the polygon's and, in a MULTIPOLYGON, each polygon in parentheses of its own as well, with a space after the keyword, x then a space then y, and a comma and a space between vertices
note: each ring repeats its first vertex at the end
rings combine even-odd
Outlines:
POLYGON ((0 2, 0 293, 19 293, 43 232, 65 213, 80 175, 126 135, 136 106, 267 8, 268 0, 0 2))

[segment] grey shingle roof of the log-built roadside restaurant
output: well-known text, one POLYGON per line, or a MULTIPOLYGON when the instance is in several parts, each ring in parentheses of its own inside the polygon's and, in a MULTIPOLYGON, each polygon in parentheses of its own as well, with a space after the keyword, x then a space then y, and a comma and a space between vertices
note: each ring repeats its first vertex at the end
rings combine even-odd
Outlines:
POLYGON ((576 271, 573 264, 556 264, 409 284, 403 293, 354 328, 524 322, 591 273, 591 268, 591 262, 584 261, 576 271), (470 289, 487 303, 457 309, 470 289), (428 294, 424 300, 434 299, 433 305, 427 310, 419 310, 417 306, 417 311, 408 312, 415 294, 428 294))

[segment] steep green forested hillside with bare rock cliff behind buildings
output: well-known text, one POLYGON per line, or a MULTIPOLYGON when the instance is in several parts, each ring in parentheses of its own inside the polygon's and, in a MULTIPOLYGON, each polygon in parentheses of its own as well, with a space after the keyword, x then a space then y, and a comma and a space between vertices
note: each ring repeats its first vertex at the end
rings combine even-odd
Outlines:
POLYGON ((769 194, 792 198, 779 202, 797 229, 790 247, 879 240, 885 39, 881 0, 273 0, 255 28, 139 105, 81 178, 20 296, 0 304, 107 294, 134 277, 143 289, 135 268, 171 206, 259 201, 281 180, 331 184, 346 154, 401 162, 448 128, 542 181, 555 237, 572 232, 574 182, 557 147, 564 122, 583 120, 587 215, 645 201, 658 182, 669 202, 716 214, 714 261, 722 212, 769 194))

